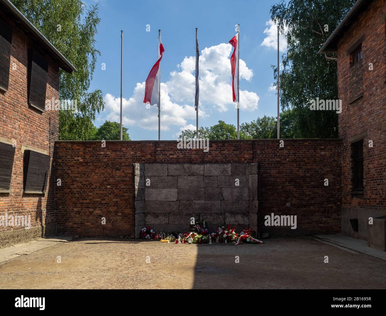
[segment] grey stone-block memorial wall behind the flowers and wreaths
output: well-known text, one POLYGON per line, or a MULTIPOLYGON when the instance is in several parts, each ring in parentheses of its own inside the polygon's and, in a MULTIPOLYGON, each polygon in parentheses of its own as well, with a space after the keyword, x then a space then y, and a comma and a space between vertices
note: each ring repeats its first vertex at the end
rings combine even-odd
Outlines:
POLYGON ((188 232, 192 217, 257 231, 257 164, 134 164, 134 181, 137 238, 144 226, 188 232))

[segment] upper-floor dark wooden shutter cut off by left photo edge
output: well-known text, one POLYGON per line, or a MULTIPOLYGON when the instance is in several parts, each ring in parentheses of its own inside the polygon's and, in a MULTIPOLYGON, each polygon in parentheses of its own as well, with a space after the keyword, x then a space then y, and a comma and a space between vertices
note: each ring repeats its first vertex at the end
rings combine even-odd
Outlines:
POLYGON ((7 91, 11 63, 12 27, 0 19, 0 90, 7 91))

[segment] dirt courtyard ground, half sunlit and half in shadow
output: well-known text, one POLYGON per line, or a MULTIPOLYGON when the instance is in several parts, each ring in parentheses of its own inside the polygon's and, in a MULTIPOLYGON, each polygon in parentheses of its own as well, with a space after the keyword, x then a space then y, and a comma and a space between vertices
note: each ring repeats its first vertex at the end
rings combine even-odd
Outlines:
POLYGON ((0 264, 0 288, 386 289, 385 271, 385 260, 312 237, 238 246, 77 238, 0 264))

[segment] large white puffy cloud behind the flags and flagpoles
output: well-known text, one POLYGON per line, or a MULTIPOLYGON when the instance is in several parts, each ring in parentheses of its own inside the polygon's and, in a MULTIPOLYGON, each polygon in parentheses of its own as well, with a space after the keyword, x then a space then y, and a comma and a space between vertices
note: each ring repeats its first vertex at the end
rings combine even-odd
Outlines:
MULTIPOLYGON (((208 117, 208 112, 227 111, 234 107, 232 101, 232 78, 230 71, 230 44, 219 44, 207 47, 200 56, 200 118, 208 117)), ((195 129, 188 120, 196 118, 194 109, 195 93, 195 61, 194 57, 185 57, 170 73, 169 81, 161 83, 161 129, 169 130, 171 125, 179 127, 179 131, 195 129)), ((250 81, 252 69, 240 59, 240 78, 250 81)), ((122 100, 122 122, 126 126, 138 126, 148 130, 158 129, 158 112, 156 106, 146 108, 143 103, 145 82, 137 83, 129 99, 122 100)), ((119 122, 120 98, 107 93, 105 95, 106 119, 119 122)), ((240 108, 253 111, 258 108, 259 96, 250 91, 240 90, 240 108)), ((174 136, 178 136, 179 133, 174 136)))

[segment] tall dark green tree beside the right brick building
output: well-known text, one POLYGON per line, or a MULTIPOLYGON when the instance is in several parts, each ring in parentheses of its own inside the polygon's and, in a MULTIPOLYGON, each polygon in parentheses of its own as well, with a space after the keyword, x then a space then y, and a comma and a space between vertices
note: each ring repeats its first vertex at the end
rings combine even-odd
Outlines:
MULTIPOLYGON (((338 96, 337 63, 318 50, 356 0, 282 0, 271 8, 271 19, 284 33, 288 50, 282 56, 280 104, 293 109, 296 137, 338 137, 335 111, 312 111, 310 100, 338 96), (328 30, 327 30, 327 27, 328 30)), ((277 80, 277 67, 274 78, 277 80)))

